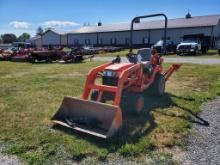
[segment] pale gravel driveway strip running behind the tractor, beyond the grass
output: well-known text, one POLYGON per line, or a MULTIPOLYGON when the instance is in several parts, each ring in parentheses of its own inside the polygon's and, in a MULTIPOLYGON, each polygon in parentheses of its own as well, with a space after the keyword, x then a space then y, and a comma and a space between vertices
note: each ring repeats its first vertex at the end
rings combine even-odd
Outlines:
MULTIPOLYGON (((127 62, 126 57, 121 57, 123 62, 127 62)), ((114 57, 95 57, 95 61, 112 61, 114 57)), ((220 58, 201 58, 201 57, 164 57, 164 62, 167 63, 191 63, 191 64, 220 64, 220 58)))

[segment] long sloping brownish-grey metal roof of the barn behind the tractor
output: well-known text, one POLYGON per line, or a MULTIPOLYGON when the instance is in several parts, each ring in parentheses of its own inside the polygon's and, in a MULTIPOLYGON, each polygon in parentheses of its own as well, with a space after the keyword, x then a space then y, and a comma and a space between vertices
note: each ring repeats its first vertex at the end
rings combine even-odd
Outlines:
MULTIPOLYGON (((220 15, 195 16, 192 18, 176 18, 168 20, 168 28, 186 28, 186 27, 205 27, 215 26, 220 20, 220 15)), ((164 26, 164 20, 140 22, 134 25, 135 30, 143 29, 161 29, 164 26)), ((70 33, 96 33, 96 32, 113 32, 128 31, 130 23, 106 24, 102 26, 85 26, 76 29, 70 33)))

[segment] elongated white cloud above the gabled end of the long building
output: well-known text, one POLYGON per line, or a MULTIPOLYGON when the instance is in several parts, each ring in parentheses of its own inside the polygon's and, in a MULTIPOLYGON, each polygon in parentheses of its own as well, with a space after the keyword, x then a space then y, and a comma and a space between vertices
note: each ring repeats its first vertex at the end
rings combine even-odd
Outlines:
POLYGON ((49 28, 64 28, 64 27, 72 27, 79 26, 80 24, 71 21, 47 21, 43 23, 43 26, 49 28))

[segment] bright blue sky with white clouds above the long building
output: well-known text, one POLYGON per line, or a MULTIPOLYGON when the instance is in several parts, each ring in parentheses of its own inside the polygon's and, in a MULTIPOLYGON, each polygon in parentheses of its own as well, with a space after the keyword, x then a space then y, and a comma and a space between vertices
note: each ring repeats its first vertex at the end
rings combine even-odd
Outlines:
POLYGON ((143 14, 165 13, 169 18, 220 14, 220 0, 0 0, 0 34, 28 32, 38 26, 58 31, 83 24, 130 22, 143 14))

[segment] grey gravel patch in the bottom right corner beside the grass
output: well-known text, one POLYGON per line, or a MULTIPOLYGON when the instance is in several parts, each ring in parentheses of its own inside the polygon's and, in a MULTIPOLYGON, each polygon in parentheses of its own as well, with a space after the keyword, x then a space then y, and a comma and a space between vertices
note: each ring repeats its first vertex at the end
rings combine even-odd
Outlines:
POLYGON ((220 97, 204 103, 201 118, 209 126, 194 124, 184 165, 220 165, 220 97))

